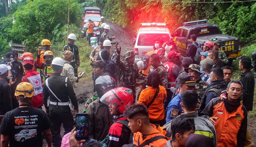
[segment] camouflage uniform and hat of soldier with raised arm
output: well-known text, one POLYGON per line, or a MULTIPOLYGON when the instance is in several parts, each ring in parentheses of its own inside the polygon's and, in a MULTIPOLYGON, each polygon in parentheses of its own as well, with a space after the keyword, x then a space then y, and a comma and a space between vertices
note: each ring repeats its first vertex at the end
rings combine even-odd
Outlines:
POLYGON ((129 63, 126 59, 135 56, 133 51, 126 52, 126 58, 124 61, 120 61, 120 55, 116 55, 116 64, 121 68, 121 79, 119 86, 123 86, 133 90, 133 98, 135 102, 136 98, 136 79, 142 79, 143 76, 139 74, 139 69, 136 63, 129 63))

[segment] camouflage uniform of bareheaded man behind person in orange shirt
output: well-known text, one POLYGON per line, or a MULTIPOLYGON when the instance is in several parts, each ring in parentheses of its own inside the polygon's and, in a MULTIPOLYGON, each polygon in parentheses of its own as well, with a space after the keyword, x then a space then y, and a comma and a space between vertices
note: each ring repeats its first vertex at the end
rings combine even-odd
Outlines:
POLYGON ((164 65, 161 63, 158 67, 151 66, 149 68, 149 73, 152 71, 156 71, 159 73, 160 79, 161 79, 161 86, 164 86, 165 89, 167 89, 167 82, 168 82, 168 71, 164 67, 164 65))

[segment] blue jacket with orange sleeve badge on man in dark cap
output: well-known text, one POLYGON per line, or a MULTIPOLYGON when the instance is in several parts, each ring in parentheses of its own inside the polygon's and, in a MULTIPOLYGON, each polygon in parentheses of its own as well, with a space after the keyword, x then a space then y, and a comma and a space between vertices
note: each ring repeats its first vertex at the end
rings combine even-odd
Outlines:
POLYGON ((178 117, 182 112, 182 107, 180 105, 181 102, 181 94, 179 93, 175 96, 171 102, 166 107, 167 115, 166 115, 166 123, 171 121, 174 117, 178 117))

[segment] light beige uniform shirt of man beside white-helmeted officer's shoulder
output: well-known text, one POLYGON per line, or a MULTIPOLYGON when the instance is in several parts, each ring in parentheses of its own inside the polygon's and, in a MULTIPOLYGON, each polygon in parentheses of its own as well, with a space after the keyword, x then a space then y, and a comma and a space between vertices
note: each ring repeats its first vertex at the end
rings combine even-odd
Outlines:
POLYGON ((70 65, 69 61, 64 61, 64 67, 60 75, 68 77, 73 87, 74 83, 78 82, 78 77, 75 77, 74 68, 70 65))

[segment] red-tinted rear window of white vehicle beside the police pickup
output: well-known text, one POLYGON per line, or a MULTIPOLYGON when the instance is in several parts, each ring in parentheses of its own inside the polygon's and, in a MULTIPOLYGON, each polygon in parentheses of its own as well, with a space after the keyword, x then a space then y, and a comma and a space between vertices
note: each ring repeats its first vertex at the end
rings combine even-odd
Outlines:
POLYGON ((154 46, 155 40, 157 37, 160 37, 164 40, 164 42, 170 41, 169 34, 140 34, 138 38, 137 45, 139 46, 154 46))

